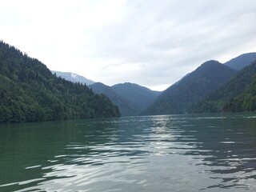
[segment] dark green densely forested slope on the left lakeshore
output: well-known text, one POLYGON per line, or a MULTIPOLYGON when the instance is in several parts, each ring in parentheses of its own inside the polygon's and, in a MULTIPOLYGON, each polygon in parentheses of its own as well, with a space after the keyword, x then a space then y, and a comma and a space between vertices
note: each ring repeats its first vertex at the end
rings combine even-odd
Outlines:
POLYGON ((0 122, 119 117, 118 107, 86 85, 58 78, 26 54, 0 42, 0 122))

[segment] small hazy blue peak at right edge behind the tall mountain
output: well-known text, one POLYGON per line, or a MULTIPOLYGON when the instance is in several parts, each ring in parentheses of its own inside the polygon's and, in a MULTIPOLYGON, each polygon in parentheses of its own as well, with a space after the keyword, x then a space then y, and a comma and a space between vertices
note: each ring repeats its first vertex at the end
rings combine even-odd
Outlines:
POLYGON ((229 62, 224 63, 224 65, 230 66, 234 70, 241 70, 243 67, 249 66, 254 60, 256 60, 256 53, 241 54, 236 58, 232 58, 229 62))

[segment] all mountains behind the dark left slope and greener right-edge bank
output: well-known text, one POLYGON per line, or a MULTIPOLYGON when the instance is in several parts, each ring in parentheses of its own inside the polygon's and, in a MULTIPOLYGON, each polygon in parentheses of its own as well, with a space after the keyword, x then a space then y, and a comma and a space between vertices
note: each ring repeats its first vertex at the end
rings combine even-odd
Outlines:
POLYGON ((162 92, 130 82, 106 86, 101 82, 88 82, 78 74, 53 73, 72 82, 86 83, 95 93, 105 94, 118 106, 122 116, 219 112, 227 107, 230 98, 242 94, 252 82, 254 69, 246 70, 246 66, 254 60, 256 53, 242 54, 224 64, 214 60, 204 62, 162 92), (246 75, 250 80, 240 78, 246 75))

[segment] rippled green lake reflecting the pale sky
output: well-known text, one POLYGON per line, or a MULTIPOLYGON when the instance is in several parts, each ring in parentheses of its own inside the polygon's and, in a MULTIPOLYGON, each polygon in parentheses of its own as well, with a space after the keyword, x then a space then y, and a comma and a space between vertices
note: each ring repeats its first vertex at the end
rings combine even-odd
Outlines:
POLYGON ((256 114, 0 125, 0 191, 256 191, 256 114))

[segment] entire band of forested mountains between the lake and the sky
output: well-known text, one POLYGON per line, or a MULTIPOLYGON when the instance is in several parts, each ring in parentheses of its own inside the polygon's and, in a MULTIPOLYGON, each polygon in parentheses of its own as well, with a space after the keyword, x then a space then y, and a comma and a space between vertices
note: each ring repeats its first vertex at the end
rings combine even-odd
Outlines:
POLYGON ((0 122, 256 110, 256 53, 204 62, 159 92, 50 71, 2 41, 0 51, 0 122))

